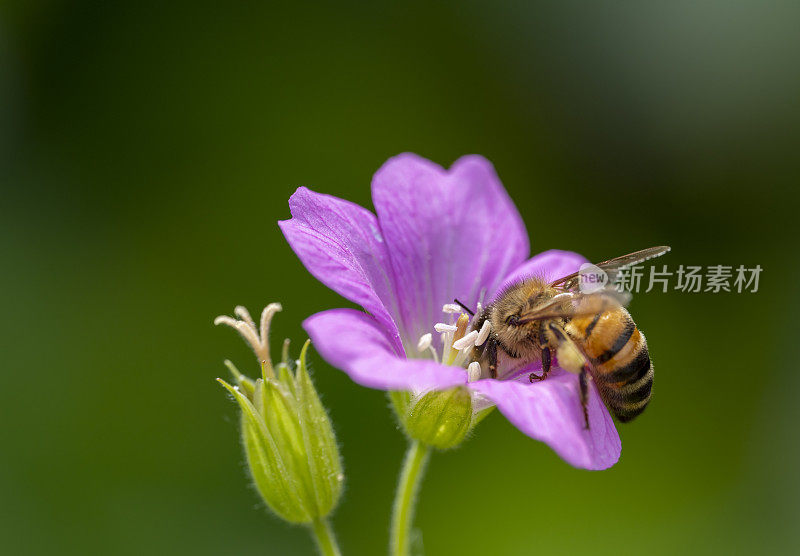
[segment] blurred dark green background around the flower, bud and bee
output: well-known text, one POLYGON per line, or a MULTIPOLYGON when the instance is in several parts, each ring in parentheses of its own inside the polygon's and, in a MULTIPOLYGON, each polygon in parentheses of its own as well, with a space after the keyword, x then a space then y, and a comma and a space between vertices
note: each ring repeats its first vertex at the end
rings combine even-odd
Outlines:
MULTIPOLYGON (((0 552, 308 554, 249 487, 212 319, 273 340, 347 305, 276 221, 299 185, 371 207, 414 151, 492 160, 534 252, 764 268, 639 295, 658 379, 622 459, 573 469, 499 414, 436 455, 426 553, 800 549, 796 2, 4 2, 0 552)), ((405 443, 312 355, 347 554, 385 553, 405 443)))

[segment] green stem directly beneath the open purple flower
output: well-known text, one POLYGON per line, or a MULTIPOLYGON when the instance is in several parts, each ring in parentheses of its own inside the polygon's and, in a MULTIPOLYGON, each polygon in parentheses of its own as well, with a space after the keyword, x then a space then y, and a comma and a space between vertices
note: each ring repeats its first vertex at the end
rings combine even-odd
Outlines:
POLYGON ((411 442, 406 452, 392 511, 392 531, 389 540, 389 554, 392 556, 409 555, 414 506, 417 503, 419 485, 430 453, 430 448, 417 440, 411 442))

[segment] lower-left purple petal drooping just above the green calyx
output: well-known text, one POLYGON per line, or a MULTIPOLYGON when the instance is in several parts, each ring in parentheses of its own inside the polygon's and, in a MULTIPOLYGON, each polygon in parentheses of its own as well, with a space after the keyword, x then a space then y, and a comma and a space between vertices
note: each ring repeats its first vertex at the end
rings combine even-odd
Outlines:
POLYGON ((429 359, 406 359, 375 318, 354 309, 308 317, 303 328, 320 355, 358 384, 379 390, 443 390, 467 382, 466 371, 429 359))

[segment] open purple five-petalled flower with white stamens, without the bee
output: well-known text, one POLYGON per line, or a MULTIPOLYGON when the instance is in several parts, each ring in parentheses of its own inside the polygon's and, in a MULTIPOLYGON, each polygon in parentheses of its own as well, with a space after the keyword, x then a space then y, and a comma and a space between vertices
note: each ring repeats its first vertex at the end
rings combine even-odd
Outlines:
POLYGON ((525 225, 480 156, 460 158, 449 170, 414 154, 396 156, 375 174, 372 199, 377 216, 301 187, 289 199, 291 220, 279 223, 309 272, 366 311, 309 317, 303 326, 317 351, 370 388, 419 393, 465 386, 476 407, 496 404, 571 465, 614 465, 619 436, 593 386, 586 430, 577 376, 555 367, 535 383, 530 368, 502 380, 481 378, 480 369, 466 368, 467 349, 448 357, 452 329, 441 322, 448 316, 443 306, 454 298, 476 307, 504 284, 531 275, 554 280, 586 259, 557 250, 528 259, 525 225), (437 323, 441 335, 428 335, 437 323))

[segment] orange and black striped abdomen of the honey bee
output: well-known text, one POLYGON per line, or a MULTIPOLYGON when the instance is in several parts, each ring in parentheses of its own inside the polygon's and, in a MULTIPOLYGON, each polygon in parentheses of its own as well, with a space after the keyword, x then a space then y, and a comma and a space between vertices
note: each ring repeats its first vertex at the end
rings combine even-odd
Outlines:
POLYGON ((590 357, 592 377, 614 416, 626 422, 644 411, 653 387, 653 363, 644 334, 628 311, 619 307, 574 318, 566 328, 590 357))

